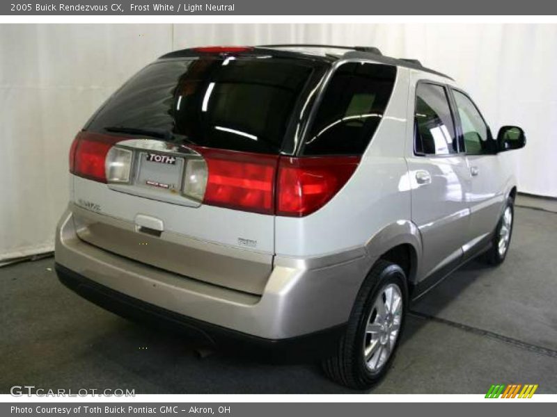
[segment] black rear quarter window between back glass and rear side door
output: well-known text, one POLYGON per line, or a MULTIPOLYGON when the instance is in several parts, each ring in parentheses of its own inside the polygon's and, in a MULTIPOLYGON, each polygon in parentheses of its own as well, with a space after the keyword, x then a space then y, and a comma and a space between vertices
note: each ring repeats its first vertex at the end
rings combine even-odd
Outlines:
POLYGON ((360 155, 393 92, 396 67, 347 63, 337 68, 304 146, 305 155, 360 155))

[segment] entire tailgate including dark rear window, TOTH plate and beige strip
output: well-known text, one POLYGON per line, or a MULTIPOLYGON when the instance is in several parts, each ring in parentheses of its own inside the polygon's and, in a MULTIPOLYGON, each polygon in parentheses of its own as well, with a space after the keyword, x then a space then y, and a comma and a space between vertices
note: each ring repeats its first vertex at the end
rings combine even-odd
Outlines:
POLYGON ((97 163, 102 174, 94 152, 98 143, 110 148, 104 181, 75 172, 79 237, 187 277, 262 293, 274 255, 278 156, 324 71, 309 60, 220 54, 141 70, 77 138, 77 168, 94 172, 97 163))

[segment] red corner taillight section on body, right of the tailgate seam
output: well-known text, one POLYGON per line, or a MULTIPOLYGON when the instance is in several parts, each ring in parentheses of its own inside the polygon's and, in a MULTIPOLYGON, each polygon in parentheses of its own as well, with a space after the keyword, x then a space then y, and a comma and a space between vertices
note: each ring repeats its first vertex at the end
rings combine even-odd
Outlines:
POLYGON ((302 217, 338 193, 358 166, 357 156, 282 157, 278 165, 276 215, 302 217))

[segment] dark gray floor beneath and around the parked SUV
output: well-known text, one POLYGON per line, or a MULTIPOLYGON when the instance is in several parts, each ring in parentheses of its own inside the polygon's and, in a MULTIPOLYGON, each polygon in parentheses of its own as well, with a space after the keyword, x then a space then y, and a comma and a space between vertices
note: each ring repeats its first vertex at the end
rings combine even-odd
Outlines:
MULTIPOLYGON (((516 209, 508 259, 473 262, 412 306, 391 372, 372 393, 557 393, 557 214, 516 209)), ((313 364, 213 354, 127 322, 58 283, 54 260, 0 268, 0 393, 10 386, 136 393, 347 393, 313 364)))

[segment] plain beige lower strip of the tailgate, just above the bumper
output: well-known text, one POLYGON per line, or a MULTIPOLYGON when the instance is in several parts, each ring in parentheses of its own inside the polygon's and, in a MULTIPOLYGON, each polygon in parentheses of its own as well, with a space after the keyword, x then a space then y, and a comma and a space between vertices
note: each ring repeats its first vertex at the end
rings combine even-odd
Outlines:
MULTIPOLYGON (((82 181, 87 180, 77 181, 79 188, 86 192, 88 187, 82 181)), ((95 183, 91 185, 93 188, 97 186, 95 183)), ((78 194, 83 197, 85 193, 78 194)), ((91 198, 91 194, 87 195, 91 198)), ((81 201, 84 201, 82 197, 81 201)), ((160 236, 152 236, 137 231, 136 223, 129 219, 94 213, 77 205, 72 211, 78 236, 82 240, 185 277, 260 295, 271 272, 272 254, 209 243, 168 230, 160 236)), ((187 221, 184 223, 185 226, 189 224, 187 221)), ((255 238, 255 234, 251 237, 255 238)))

